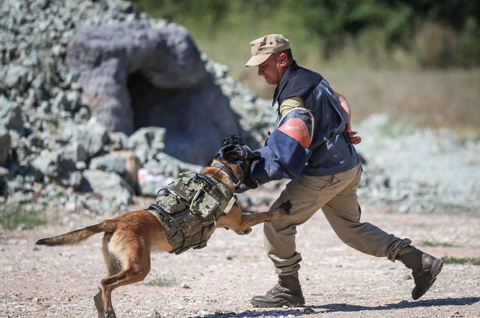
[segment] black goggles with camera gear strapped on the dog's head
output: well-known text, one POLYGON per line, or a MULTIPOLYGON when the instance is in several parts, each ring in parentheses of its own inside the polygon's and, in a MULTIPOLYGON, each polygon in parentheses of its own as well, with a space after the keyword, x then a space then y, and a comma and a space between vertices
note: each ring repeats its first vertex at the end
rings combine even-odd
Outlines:
POLYGON ((242 142, 240 136, 229 135, 222 138, 220 150, 216 154, 216 158, 222 161, 228 161, 234 164, 240 164, 244 171, 248 170, 246 159, 260 160, 261 155, 258 151, 252 151, 242 142), (240 156, 234 156, 232 152, 240 150, 240 156), (233 155, 233 156, 229 156, 233 155))

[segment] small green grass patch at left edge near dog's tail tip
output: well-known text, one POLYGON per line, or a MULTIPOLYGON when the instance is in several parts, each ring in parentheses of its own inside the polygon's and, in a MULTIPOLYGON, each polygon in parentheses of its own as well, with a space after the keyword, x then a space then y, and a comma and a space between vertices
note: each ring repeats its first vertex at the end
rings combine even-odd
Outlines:
POLYGON ((47 223, 43 210, 29 206, 0 206, 0 224, 8 229, 33 229, 47 223))

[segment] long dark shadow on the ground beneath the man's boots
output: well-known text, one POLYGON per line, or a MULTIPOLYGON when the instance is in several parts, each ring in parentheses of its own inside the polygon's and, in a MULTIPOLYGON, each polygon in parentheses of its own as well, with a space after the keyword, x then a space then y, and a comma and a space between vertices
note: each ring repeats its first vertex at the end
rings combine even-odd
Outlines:
POLYGON ((380 305, 377 307, 368 307, 368 306, 358 306, 358 305, 348 305, 348 304, 326 304, 321 306, 306 306, 315 309, 324 309, 314 312, 303 312, 302 309, 269 309, 264 311, 250 311, 246 310, 241 313, 222 313, 217 312, 215 314, 209 314, 203 316, 204 318, 213 318, 213 317, 255 317, 255 316, 277 316, 281 313, 285 315, 293 316, 303 316, 327 312, 352 312, 352 311, 363 311, 363 310, 390 310, 390 309, 400 309, 400 308, 418 308, 418 307, 433 307, 433 306, 466 306, 472 305, 480 301, 480 297, 462 297, 462 298, 436 298, 428 300, 419 300, 408 302, 403 300, 396 304, 380 305))

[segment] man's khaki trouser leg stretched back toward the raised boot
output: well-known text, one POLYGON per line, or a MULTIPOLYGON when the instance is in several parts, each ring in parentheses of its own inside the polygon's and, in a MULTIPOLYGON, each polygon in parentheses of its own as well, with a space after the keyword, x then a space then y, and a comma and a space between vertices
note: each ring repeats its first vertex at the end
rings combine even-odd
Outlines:
POLYGON ((357 198, 360 178, 361 166, 357 167, 350 184, 330 199, 322 207, 322 211, 336 235, 348 246, 369 255, 395 261, 398 250, 408 246, 411 241, 408 238, 397 238, 370 223, 360 222, 361 210, 357 198))

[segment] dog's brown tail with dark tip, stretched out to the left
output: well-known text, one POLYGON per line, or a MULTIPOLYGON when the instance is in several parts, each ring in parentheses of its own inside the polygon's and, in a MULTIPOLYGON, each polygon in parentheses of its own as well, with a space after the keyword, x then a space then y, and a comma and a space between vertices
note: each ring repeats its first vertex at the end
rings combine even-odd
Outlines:
POLYGON ((100 233, 100 232, 115 232, 116 226, 113 222, 108 222, 105 220, 96 225, 89 227, 81 228, 55 236, 53 238, 42 238, 36 241, 35 245, 47 245, 47 246, 58 246, 58 245, 75 245, 80 242, 83 242, 87 238, 100 233))

